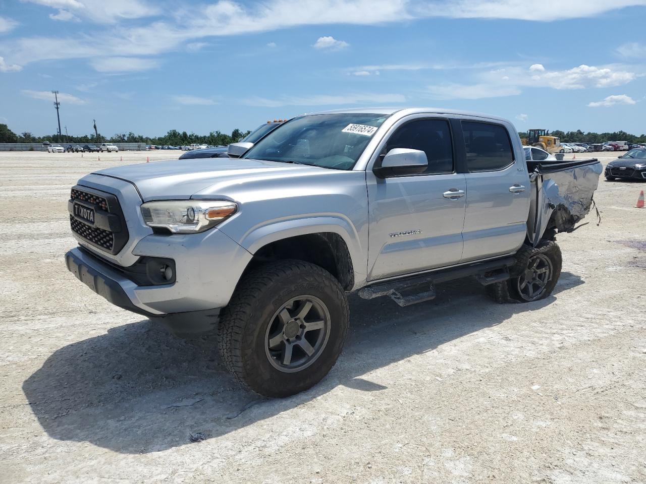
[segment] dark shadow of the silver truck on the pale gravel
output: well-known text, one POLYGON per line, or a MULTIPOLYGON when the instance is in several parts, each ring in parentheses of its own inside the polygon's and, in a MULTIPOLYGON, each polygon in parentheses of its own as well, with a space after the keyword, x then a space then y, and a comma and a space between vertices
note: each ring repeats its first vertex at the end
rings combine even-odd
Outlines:
POLYGON ((244 429, 339 385, 378 392, 386 387, 362 378, 371 370, 537 310, 582 283, 563 272, 552 296, 529 304, 497 305, 472 279, 441 285, 436 299, 408 308, 387 297, 351 296, 351 330, 336 367, 316 387, 286 399, 240 388, 213 339, 177 339, 148 320, 56 350, 23 390, 52 438, 123 454, 158 452, 190 443, 191 432, 209 439, 244 429))

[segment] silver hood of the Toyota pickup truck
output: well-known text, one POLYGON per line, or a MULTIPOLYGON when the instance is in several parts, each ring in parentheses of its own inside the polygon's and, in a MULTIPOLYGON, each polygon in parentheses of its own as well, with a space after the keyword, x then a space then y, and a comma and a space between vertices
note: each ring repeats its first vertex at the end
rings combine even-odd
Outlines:
POLYGON ((151 201, 226 196, 227 187, 240 188, 239 185, 245 183, 257 185, 271 179, 280 179, 284 185, 290 178, 337 171, 257 159, 203 158, 116 166, 94 174, 128 181, 137 187, 143 201, 151 201))

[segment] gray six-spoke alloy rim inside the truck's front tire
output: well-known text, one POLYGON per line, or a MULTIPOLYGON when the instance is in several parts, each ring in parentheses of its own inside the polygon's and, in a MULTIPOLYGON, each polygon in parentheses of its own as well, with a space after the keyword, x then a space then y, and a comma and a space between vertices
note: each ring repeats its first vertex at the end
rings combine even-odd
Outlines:
POLYGON ((326 347, 329 330, 329 310, 318 297, 289 299, 267 326, 265 353, 269 363, 281 372, 304 370, 326 347))

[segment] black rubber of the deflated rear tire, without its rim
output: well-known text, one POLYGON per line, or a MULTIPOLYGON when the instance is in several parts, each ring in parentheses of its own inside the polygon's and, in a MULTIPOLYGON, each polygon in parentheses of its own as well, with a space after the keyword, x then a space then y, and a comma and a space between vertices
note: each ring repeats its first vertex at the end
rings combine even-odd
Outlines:
POLYGON ((510 279, 506 281, 501 281, 498 283, 490 284, 486 287, 487 294, 494 299, 495 302, 499 304, 503 303, 528 303, 533 301, 540 301, 545 299, 554 290, 556 283, 561 276, 561 265, 563 260, 561 258, 561 248, 554 241, 541 241, 540 245, 536 248, 533 248, 529 245, 523 244, 518 252, 514 255, 516 257, 516 264, 509 268, 510 279), (551 273, 550 277, 545 285, 540 297, 528 301, 521 292, 519 292, 519 278, 525 272, 529 260, 537 255, 543 255, 547 257, 551 263, 551 273))

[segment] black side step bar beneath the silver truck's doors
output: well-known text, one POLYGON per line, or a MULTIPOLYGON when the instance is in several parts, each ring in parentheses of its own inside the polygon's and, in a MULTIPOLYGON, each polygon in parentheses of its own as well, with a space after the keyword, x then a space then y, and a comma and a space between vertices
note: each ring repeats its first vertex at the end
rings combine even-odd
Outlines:
POLYGON ((390 296, 401 307, 410 306, 435 298, 435 284, 475 276, 482 285, 509 279, 509 267, 516 263, 514 257, 495 259, 463 267, 441 269, 420 276, 404 277, 395 281, 376 283, 361 288, 357 294, 362 299, 390 296))

